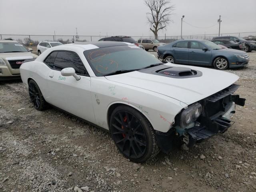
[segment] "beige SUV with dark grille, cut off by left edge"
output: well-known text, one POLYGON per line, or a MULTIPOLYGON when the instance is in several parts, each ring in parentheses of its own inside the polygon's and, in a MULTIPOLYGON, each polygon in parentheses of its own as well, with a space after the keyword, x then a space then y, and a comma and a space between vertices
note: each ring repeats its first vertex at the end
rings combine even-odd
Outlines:
POLYGON ((0 40, 0 80, 20 78, 20 66, 26 59, 36 58, 32 48, 18 41, 0 40))

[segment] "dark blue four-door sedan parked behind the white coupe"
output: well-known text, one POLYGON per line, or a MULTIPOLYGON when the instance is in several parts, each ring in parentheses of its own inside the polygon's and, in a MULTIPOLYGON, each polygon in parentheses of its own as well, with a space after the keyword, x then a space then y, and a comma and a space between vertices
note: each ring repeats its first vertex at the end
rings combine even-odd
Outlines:
POLYGON ((164 62, 187 65, 214 66, 216 69, 244 67, 249 56, 244 51, 223 49, 208 40, 177 40, 158 46, 158 58, 164 62))

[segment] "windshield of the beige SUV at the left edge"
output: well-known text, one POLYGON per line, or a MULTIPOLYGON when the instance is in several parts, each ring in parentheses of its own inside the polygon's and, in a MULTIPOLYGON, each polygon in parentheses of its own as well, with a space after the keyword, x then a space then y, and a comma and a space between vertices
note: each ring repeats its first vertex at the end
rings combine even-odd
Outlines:
POLYGON ((0 53, 29 52, 19 42, 0 42, 0 53))

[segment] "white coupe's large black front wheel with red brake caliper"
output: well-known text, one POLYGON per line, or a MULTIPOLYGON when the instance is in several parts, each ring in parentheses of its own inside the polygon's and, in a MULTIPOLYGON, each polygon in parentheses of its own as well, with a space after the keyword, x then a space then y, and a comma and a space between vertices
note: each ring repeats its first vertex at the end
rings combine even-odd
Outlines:
POLYGON ((110 133, 118 150, 133 162, 145 162, 159 152, 152 125, 130 106, 114 109, 110 117, 110 133))

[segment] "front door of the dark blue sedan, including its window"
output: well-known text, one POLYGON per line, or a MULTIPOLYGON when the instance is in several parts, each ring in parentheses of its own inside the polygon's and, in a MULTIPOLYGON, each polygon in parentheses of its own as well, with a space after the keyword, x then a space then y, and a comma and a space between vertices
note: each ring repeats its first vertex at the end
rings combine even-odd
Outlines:
POLYGON ((202 43, 198 41, 190 41, 190 48, 188 50, 189 64, 193 65, 210 65, 212 52, 202 50, 206 48, 202 43))

